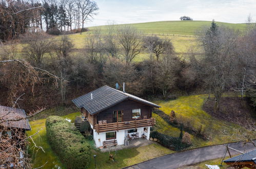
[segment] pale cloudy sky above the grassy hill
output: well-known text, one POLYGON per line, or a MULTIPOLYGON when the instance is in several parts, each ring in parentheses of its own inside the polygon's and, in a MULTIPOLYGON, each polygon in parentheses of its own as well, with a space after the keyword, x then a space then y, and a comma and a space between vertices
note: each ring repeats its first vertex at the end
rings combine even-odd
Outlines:
POLYGON ((94 0, 100 10, 89 26, 131 24, 162 20, 216 20, 245 23, 248 15, 256 20, 256 0, 94 0))

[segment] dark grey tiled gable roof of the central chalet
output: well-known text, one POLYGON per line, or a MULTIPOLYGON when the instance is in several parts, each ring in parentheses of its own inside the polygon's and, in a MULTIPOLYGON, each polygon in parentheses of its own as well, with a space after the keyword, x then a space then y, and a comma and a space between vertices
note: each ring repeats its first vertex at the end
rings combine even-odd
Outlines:
POLYGON ((72 101, 78 108, 83 107, 90 114, 95 114, 103 110, 106 110, 112 107, 113 105, 120 103, 128 98, 134 99, 144 104, 148 104, 155 108, 160 108, 159 105, 156 105, 150 101, 144 100, 140 97, 136 97, 128 93, 124 93, 122 91, 110 88, 108 86, 103 86, 83 96, 77 97, 72 101), (91 94, 93 99, 91 99, 91 94))

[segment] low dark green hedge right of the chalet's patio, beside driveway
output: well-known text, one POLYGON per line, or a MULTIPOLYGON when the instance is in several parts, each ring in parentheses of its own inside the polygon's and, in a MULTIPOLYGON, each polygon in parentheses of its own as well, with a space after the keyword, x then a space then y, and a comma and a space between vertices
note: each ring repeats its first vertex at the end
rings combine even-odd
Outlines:
POLYGON ((156 131, 150 132, 150 137, 153 139, 156 138, 160 144, 171 150, 181 151, 186 147, 189 147, 189 144, 183 143, 179 137, 171 137, 156 131))

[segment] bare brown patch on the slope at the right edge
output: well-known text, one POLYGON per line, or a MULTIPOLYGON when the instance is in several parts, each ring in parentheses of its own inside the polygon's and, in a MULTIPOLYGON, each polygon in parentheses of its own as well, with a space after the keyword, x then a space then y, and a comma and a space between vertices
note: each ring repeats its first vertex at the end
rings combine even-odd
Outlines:
POLYGON ((255 129, 256 112, 245 99, 224 97, 220 103, 220 111, 216 113, 213 112, 214 103, 213 98, 208 99, 203 105, 203 110, 215 118, 237 123, 249 130, 254 126, 255 129))

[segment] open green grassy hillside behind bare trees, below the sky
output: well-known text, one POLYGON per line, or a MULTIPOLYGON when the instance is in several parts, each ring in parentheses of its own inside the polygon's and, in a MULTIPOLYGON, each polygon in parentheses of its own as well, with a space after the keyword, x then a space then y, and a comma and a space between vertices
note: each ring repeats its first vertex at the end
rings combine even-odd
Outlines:
MULTIPOLYGON (((246 24, 229 24, 216 22, 219 26, 226 26, 236 30, 246 29, 246 24)), ((139 29, 144 35, 157 35, 162 38, 170 38, 174 46, 175 52, 181 57, 186 58, 186 52, 190 47, 196 46, 196 32, 204 27, 210 27, 211 21, 161 21, 139 24, 128 24, 139 29)), ((117 25, 122 26, 122 25, 117 25)), ((85 46, 86 36, 93 34, 93 30, 100 29, 102 33, 107 32, 108 26, 89 27, 88 32, 82 34, 71 34, 69 37, 73 40, 75 49, 82 49, 85 46)), ((135 61, 142 61, 147 58, 146 53, 141 53, 135 57, 135 61)))

